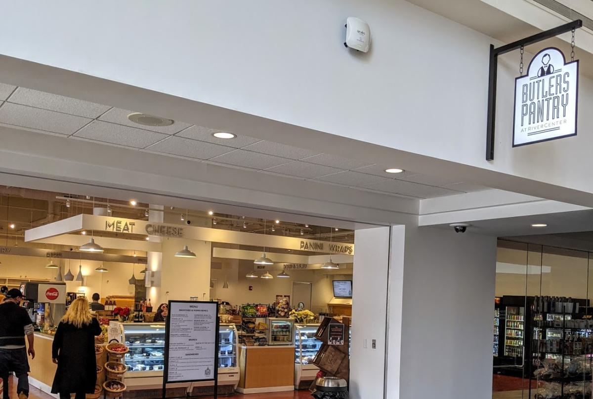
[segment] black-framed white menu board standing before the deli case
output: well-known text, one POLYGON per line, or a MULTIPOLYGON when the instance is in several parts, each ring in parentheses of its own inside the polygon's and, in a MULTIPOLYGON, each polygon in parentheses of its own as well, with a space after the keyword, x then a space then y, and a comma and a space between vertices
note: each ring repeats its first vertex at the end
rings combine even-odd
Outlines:
POLYGON ((169 301, 163 384, 218 382, 218 303, 169 301))

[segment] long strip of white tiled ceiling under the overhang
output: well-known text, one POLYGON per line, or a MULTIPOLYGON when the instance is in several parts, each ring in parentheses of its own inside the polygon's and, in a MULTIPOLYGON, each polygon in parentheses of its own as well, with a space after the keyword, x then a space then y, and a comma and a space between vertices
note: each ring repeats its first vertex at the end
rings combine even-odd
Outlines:
POLYGON ((432 198, 486 189, 455 178, 436 179, 410 171, 385 173, 385 168, 397 168, 397 162, 363 163, 241 136, 240 132, 232 132, 237 134, 235 139, 217 139, 212 128, 180 121, 165 127, 141 126, 127 118, 131 112, 0 83, 0 126, 398 197, 432 198))

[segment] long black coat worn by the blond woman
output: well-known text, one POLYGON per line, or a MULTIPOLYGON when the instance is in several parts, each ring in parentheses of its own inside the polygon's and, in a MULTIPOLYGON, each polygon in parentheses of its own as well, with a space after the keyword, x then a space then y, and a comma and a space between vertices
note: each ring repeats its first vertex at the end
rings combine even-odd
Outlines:
POLYGON ((76 328, 60 322, 53 337, 52 358, 58 359, 52 394, 86 392, 92 394, 97 384, 95 335, 101 334, 98 321, 76 328))

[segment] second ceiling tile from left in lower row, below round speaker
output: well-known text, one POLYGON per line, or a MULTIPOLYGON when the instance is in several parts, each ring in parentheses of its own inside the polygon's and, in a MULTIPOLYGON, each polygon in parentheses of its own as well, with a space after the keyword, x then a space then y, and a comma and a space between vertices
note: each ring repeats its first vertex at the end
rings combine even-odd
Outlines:
MULTIPOLYGON (((2 109, 0 108, 0 111, 1 110, 2 109)), ((94 121, 76 132, 74 136, 135 148, 148 147, 149 145, 167 137, 166 134, 155 133, 154 131, 136 129, 101 121, 94 121)))

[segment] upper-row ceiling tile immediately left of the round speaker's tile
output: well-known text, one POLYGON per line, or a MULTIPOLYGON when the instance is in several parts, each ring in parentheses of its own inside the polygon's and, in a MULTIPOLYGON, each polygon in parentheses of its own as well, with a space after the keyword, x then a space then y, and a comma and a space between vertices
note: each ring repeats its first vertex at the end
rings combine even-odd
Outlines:
POLYGON ((93 119, 111 108, 107 105, 96 104, 94 102, 82 101, 32 89, 25 89, 22 87, 12 93, 10 102, 93 119))

